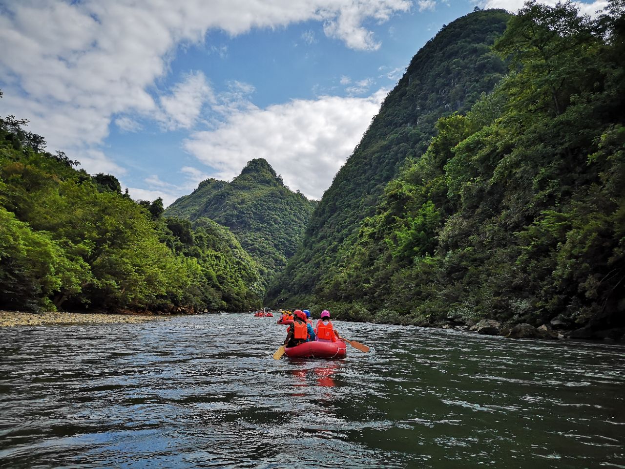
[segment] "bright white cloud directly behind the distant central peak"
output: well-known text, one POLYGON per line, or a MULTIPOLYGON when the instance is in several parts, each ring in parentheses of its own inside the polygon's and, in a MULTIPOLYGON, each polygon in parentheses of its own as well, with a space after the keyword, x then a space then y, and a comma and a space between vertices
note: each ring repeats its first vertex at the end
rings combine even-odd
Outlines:
POLYGON ((252 158, 265 158, 284 183, 319 199, 379 110, 386 90, 368 98, 322 96, 231 113, 184 143, 215 177, 230 180, 252 158))

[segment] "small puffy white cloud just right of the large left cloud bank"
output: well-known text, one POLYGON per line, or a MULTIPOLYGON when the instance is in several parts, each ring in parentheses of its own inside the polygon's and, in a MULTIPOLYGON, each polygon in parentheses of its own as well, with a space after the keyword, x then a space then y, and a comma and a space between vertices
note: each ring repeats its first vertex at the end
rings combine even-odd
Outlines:
POLYGON ((206 76, 200 71, 189 73, 174 86, 169 96, 161 96, 163 116, 160 120, 168 130, 189 129, 199 118, 204 103, 214 100, 206 76))

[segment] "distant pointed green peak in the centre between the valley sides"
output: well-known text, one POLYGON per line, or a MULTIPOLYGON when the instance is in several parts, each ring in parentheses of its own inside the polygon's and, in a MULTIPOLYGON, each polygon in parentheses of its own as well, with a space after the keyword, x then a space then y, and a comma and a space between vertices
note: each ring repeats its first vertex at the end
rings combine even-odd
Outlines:
POLYGON ((316 202, 294 193, 265 159, 252 159, 230 183, 206 179, 165 211, 227 226, 261 266, 262 281, 282 270, 296 250, 316 202))

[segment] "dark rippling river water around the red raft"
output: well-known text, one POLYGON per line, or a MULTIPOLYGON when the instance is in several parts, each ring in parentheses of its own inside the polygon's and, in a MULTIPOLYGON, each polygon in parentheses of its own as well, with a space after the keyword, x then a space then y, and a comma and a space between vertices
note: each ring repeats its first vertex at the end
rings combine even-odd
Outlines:
POLYGON ((0 330, 3 468, 624 468, 625 347, 208 315, 0 330))

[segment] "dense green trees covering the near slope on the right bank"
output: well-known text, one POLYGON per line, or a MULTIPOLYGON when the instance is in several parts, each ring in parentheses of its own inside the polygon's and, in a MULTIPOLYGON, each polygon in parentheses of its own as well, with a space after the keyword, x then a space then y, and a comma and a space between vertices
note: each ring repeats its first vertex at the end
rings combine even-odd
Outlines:
POLYGON ((439 119, 317 285, 352 317, 625 326, 625 2, 527 3, 510 73, 439 119))

